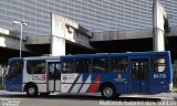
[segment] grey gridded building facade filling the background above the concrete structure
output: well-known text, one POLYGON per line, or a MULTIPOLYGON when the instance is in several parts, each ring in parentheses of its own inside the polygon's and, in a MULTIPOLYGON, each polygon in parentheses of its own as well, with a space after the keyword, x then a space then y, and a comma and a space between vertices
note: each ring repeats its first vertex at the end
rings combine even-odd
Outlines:
MULTIPOLYGON (((160 0, 169 25, 177 25, 177 0, 160 0)), ((80 23, 92 32, 149 29, 153 0, 0 0, 0 28, 19 35, 12 21, 24 20, 25 35, 50 35, 50 12, 80 23)))

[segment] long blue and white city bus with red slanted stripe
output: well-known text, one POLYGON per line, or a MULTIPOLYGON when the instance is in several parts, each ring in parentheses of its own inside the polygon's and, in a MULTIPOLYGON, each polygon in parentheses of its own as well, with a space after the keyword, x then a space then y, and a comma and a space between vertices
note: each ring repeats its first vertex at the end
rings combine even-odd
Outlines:
POLYGON ((9 60, 6 91, 29 96, 50 93, 158 94, 173 88, 170 52, 98 53, 9 60))

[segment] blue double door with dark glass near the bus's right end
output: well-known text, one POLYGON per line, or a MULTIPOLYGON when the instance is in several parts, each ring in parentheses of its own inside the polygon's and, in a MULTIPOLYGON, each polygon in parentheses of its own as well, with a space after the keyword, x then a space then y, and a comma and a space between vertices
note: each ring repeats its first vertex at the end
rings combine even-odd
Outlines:
POLYGON ((132 59, 132 92, 148 93, 148 59, 132 59))

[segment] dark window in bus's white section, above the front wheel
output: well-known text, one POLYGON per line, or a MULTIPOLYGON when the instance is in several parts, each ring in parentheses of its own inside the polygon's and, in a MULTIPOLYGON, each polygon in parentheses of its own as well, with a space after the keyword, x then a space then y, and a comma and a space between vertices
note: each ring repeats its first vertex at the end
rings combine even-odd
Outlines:
POLYGON ((45 61, 44 60, 28 61, 27 72, 29 74, 44 74, 45 73, 45 61))

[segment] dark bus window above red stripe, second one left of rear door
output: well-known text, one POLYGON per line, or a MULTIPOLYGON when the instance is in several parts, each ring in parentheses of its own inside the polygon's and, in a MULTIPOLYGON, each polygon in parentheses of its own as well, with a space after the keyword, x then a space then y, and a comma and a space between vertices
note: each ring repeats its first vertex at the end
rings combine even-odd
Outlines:
POLYGON ((92 72, 93 73, 107 73, 108 72, 108 57, 93 59, 92 72))

